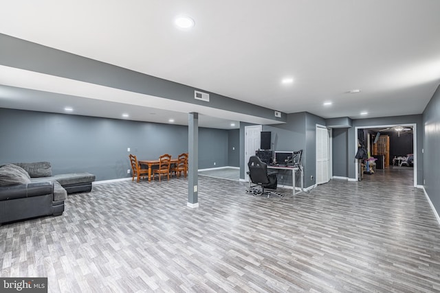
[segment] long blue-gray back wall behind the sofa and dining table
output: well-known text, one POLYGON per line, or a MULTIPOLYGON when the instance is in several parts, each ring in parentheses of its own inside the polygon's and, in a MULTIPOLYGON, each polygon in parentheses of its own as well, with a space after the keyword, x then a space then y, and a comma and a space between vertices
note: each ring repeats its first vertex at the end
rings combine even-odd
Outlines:
MULTIPOLYGON (((0 164, 50 161, 54 174, 129 176, 138 159, 188 152, 188 127, 0 108, 0 164), (127 152, 127 148, 131 148, 127 152)), ((228 130, 199 128, 199 169, 228 165, 228 130)))

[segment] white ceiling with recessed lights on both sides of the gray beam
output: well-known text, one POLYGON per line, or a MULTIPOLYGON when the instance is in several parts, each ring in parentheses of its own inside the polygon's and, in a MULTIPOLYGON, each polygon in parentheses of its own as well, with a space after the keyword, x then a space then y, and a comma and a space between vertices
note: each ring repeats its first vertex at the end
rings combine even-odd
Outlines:
MULTIPOLYGON (((285 113, 420 114, 440 83, 438 0, 2 2, 0 33, 285 113), (177 29, 179 14, 191 16, 195 27, 177 29), (285 77, 294 82, 281 84, 285 77), (323 106, 327 101, 333 104, 323 106)), ((186 124, 193 110, 163 101, 148 107, 135 97, 121 104, 100 98, 109 91, 104 87, 72 91, 72 80, 52 89, 51 78, 0 67, 0 84, 8 86, 0 91, 0 107, 62 112, 72 106, 78 115, 120 119, 123 111, 140 121, 168 123, 172 116, 177 124, 186 124), (32 81, 23 78, 30 75, 32 81), (19 88, 63 95, 48 104, 41 92, 19 88)), ((198 110, 212 122, 203 125, 201 118, 201 126, 253 121, 198 110)))

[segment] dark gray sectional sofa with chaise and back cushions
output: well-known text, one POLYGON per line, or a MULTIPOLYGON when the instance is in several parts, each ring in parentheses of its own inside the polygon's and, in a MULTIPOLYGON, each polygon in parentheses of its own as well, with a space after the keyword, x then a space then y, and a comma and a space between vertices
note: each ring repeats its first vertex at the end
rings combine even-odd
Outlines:
POLYGON ((67 194, 91 191, 93 174, 52 175, 49 162, 0 166, 0 224, 62 215, 67 194))

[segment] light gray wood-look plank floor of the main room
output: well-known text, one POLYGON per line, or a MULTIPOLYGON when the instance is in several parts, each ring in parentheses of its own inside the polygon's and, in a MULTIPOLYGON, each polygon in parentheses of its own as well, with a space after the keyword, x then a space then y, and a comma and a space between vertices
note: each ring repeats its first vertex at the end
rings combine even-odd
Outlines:
POLYGON ((65 213, 0 226, 1 277, 50 292, 439 292, 440 227, 412 172, 296 196, 187 180, 95 185, 65 213))

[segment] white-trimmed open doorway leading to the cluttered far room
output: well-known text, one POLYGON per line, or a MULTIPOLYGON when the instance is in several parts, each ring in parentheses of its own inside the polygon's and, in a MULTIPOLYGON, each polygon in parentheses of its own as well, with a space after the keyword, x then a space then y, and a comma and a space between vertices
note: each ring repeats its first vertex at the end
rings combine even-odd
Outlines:
MULTIPOLYGON (((361 163, 356 160, 356 180, 364 174, 373 174, 386 169, 412 172, 413 186, 417 187, 417 129, 415 124, 362 126, 355 131, 356 150, 361 137, 358 130, 363 130, 364 147, 369 160, 361 163), (372 164, 370 164, 372 163, 372 164), (363 165, 361 165, 363 164, 363 165), (367 169, 365 166, 373 166, 367 169)), ((373 176, 370 178, 374 180, 373 176)))

